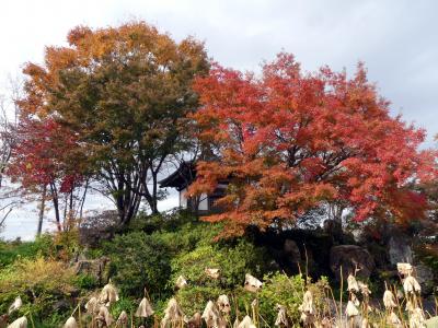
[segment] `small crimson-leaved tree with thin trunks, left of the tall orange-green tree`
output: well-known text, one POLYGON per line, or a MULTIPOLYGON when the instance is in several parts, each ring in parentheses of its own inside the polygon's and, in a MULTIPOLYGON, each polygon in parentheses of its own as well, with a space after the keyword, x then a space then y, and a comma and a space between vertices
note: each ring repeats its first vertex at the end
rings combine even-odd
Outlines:
MULTIPOLYGON (((82 215, 88 191, 85 159, 81 157, 77 136, 53 118, 20 118, 14 129, 16 142, 8 175, 20 183, 22 196, 42 197, 44 214, 46 200, 51 201, 58 231, 69 229, 69 219, 82 215)), ((39 215, 37 235, 42 233, 39 215)))

